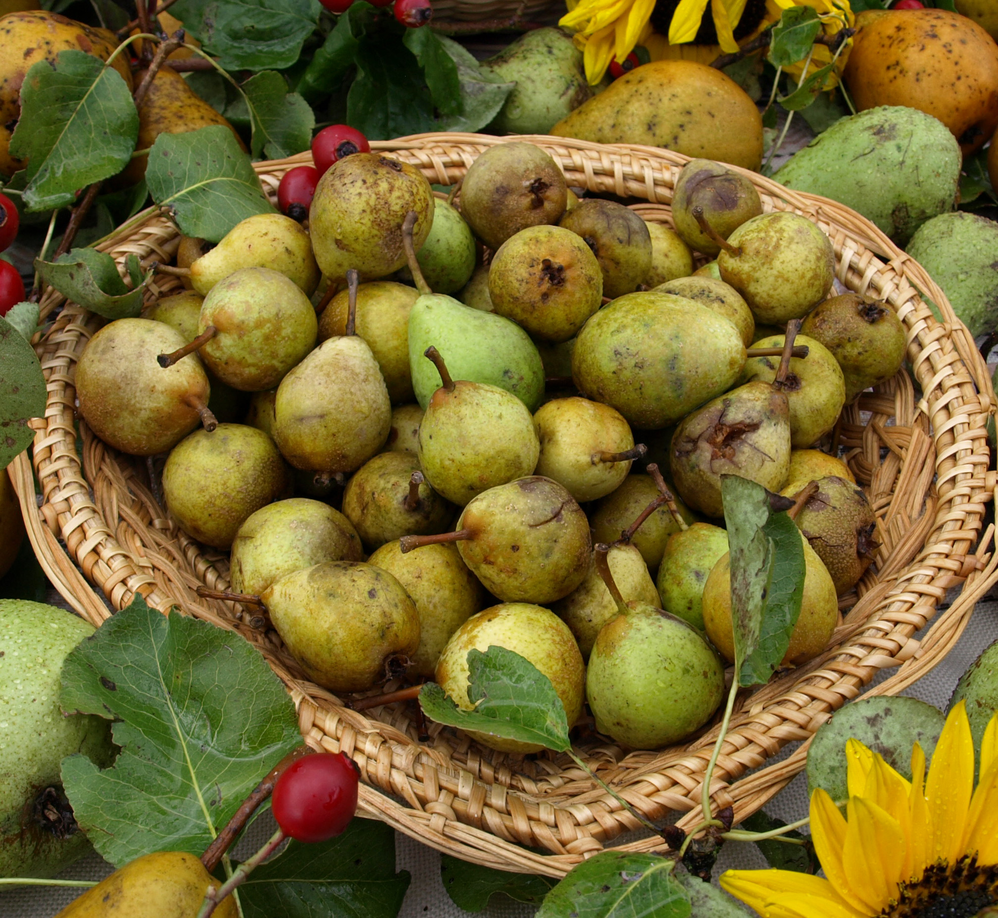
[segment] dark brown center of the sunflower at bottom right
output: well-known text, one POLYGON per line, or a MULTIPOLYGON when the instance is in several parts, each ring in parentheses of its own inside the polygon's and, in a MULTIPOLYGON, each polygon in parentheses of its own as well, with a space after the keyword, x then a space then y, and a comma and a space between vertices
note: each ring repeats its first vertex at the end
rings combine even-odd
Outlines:
POLYGON ((917 883, 902 886, 896 905, 884 909, 885 918, 974 918, 998 904, 998 866, 980 867, 964 857, 952 867, 935 864, 917 883))

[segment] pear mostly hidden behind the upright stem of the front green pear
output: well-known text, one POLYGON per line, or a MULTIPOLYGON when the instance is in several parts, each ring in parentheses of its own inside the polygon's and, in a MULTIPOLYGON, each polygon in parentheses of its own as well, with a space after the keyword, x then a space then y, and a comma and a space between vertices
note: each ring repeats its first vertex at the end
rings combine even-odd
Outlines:
MULTIPOLYGON (((612 545, 607 562, 627 602, 658 607, 659 593, 638 549, 628 543, 612 545)), ((572 630, 582 659, 589 660, 600 630, 620 614, 596 569, 595 557, 590 558, 586 579, 565 599, 553 603, 551 611, 572 630)))

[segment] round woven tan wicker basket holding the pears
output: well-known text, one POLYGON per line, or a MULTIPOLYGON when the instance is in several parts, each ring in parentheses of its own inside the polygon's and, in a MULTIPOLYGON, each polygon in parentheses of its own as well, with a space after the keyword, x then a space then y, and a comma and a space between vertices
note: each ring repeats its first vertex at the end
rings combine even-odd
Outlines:
MULTIPOLYGON (((431 182, 450 185, 482 150, 508 140, 438 134, 373 146, 418 166, 431 182)), ((570 185, 640 199, 648 202, 635 206, 643 217, 671 221, 668 204, 686 158, 648 147, 529 140, 561 164, 570 185)), ((259 163, 256 171, 272 196, 280 176, 303 162, 306 155, 259 163)), ((795 211, 829 234, 841 284, 886 299, 896 310, 907 330, 918 388, 901 372, 847 407, 836 428, 838 444, 872 501, 882 545, 875 571, 858 585, 858 599, 843 603, 851 609, 828 651, 740 698, 712 783, 716 804, 734 806, 736 820, 801 769, 806 742, 765 766, 767 758, 787 743, 806 741, 881 670, 899 668, 871 689, 876 693, 896 693, 923 676, 953 646, 974 603, 996 579, 995 557, 987 553, 992 530, 983 538, 981 532, 984 503, 995 488, 985 432, 995 396, 966 328, 924 270, 866 220, 833 202, 746 175, 765 210, 795 211), (919 291, 938 305, 943 323, 919 291), (947 591, 961 585, 955 602, 915 640, 947 591)), ((150 262, 169 260, 177 244, 178 230, 152 209, 99 247, 119 262, 130 252, 150 262)), ((177 279, 160 275, 156 284, 153 295, 171 291, 177 279)), ((62 298, 47 291, 43 313, 60 304, 62 298)), ((633 816, 566 756, 503 754, 438 724, 430 724, 430 740, 420 743, 411 702, 352 710, 307 682, 277 636, 253 630, 239 606, 199 599, 195 590, 201 584, 228 586, 227 558, 178 530, 154 497, 145 462, 105 446, 84 423, 79 423, 79 451, 73 372, 102 324, 100 317, 65 303, 38 344, 48 379, 46 417, 36 422, 34 442, 40 512, 27 454, 11 466, 36 553, 82 616, 95 624, 107 618, 98 593, 121 609, 138 592, 161 610, 179 606, 239 631, 287 686, 307 742, 342 749, 357 762, 363 811, 441 851, 503 869, 560 876, 637 828, 633 816)), ((659 819, 679 811, 686 813, 680 825, 689 827, 698 819, 690 811, 699 807, 717 729, 715 721, 713 729, 686 746, 656 752, 626 754, 597 740, 583 742, 579 751, 646 816, 659 819)), ((661 838, 644 837, 624 848, 663 846, 661 838)))

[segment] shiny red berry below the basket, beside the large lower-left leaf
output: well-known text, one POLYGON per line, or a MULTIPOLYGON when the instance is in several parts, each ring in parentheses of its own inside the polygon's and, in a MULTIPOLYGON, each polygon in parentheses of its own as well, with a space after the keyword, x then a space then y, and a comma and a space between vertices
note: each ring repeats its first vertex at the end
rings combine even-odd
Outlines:
POLYGON ((273 818, 298 841, 325 841, 346 828, 357 809, 357 769, 342 752, 299 758, 273 788, 273 818))

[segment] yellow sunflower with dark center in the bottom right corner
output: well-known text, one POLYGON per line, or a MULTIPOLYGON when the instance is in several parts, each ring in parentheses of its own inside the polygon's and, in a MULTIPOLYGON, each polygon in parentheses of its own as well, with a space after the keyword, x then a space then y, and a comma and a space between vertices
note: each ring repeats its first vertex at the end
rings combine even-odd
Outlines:
POLYGON ((846 815, 811 794, 814 849, 827 879, 729 870, 721 885, 763 918, 972 918, 998 904, 998 713, 974 745, 961 701, 946 718, 925 778, 916 743, 910 781, 862 743, 846 745, 846 815))

